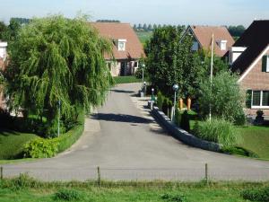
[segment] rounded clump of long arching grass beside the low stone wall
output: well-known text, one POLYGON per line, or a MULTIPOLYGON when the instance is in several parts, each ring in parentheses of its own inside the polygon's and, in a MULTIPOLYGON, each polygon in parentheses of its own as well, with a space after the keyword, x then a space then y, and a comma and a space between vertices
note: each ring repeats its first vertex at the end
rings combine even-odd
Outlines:
POLYGON ((223 146, 239 144, 239 131, 228 120, 213 118, 200 122, 196 136, 223 146))

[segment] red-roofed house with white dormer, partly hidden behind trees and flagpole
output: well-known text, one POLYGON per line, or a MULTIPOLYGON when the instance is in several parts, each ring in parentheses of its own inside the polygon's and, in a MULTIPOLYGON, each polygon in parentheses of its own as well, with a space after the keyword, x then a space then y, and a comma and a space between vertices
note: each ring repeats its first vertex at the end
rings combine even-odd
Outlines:
POLYGON ((234 43, 226 27, 188 26, 186 33, 193 36, 192 49, 194 51, 199 49, 210 50, 212 36, 214 35, 214 53, 218 57, 223 57, 234 43))

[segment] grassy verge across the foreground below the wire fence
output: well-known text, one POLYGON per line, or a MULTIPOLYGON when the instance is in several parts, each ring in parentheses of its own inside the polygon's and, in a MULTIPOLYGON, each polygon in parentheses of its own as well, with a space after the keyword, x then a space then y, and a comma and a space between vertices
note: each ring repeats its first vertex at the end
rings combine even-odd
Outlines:
POLYGON ((0 181, 0 201, 95 201, 95 202, 237 202, 245 189, 268 187, 247 182, 39 182, 25 176, 0 181), (177 199, 177 200, 176 200, 177 199))

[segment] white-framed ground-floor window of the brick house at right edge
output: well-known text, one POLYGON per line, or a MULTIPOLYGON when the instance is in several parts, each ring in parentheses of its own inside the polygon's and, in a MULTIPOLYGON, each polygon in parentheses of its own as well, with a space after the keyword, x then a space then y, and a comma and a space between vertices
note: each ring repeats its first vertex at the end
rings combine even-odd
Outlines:
POLYGON ((253 91, 251 107, 256 109, 269 108, 269 91, 253 91))

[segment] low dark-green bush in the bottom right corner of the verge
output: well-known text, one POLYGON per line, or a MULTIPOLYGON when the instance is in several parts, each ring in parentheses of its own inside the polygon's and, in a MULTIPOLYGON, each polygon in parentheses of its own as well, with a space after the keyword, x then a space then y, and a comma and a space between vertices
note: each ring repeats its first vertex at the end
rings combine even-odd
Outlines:
POLYGON ((241 196, 250 201, 260 201, 268 202, 269 201, 269 187, 262 189, 246 189, 241 192, 241 196))

